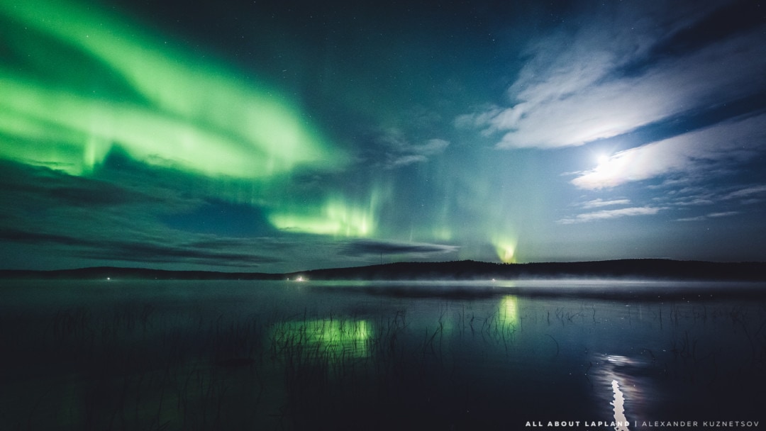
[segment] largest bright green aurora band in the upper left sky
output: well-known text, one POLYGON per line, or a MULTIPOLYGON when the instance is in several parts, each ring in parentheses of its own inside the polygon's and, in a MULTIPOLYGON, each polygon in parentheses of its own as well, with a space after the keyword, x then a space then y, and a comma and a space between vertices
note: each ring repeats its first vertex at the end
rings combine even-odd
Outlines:
POLYGON ((0 66, 2 158, 83 175, 119 146, 147 164, 233 178, 344 163, 272 89, 116 16, 31 0, 0 2, 0 23, 16 31, 18 63, 0 66))

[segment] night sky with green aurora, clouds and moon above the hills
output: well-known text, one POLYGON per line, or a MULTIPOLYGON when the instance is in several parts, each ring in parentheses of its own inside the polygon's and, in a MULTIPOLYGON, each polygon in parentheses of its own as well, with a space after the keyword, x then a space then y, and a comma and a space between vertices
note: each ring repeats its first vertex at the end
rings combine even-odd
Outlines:
POLYGON ((0 0, 0 267, 766 260, 766 3, 0 0))

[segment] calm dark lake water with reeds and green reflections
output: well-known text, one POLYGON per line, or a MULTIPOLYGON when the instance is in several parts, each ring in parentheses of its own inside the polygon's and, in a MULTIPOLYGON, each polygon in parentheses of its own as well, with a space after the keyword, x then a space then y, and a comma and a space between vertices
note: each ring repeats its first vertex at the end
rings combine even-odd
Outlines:
POLYGON ((2 429, 766 429, 761 284, 2 283, 2 429))

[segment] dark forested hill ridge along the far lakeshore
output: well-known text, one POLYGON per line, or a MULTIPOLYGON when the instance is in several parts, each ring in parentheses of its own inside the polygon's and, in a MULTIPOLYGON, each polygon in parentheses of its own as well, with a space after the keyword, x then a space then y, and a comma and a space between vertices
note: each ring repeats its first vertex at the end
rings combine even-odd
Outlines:
POLYGON ((561 279, 630 278, 766 281, 766 263, 716 263, 695 260, 630 259, 593 262, 489 263, 473 260, 453 262, 400 262, 351 268, 313 269, 296 273, 224 273, 212 271, 166 271, 162 269, 100 266, 55 271, 0 270, 4 279, 294 279, 405 280, 405 279, 561 279))

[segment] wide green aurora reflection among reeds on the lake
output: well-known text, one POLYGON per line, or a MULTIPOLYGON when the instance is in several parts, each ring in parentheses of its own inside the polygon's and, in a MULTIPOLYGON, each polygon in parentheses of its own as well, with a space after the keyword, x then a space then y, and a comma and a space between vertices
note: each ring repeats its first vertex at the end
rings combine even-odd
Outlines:
POLYGON ((372 325, 366 320, 322 318, 274 325, 273 341, 280 349, 305 349, 317 360, 365 358, 372 325))

